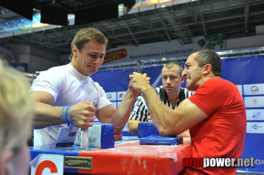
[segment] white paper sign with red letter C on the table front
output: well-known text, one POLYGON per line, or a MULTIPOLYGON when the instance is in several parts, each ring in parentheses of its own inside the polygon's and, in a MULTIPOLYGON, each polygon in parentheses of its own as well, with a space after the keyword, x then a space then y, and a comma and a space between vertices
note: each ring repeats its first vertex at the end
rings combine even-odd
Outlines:
POLYGON ((30 162, 30 166, 31 175, 63 175, 64 155, 39 154, 30 162))

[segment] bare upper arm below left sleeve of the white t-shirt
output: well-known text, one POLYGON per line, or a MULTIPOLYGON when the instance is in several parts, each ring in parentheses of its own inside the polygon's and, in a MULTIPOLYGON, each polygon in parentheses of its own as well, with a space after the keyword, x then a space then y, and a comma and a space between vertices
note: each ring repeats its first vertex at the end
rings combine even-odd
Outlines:
POLYGON ((29 92, 30 95, 32 95, 33 99, 36 102, 41 102, 49 105, 54 104, 54 97, 48 93, 48 92, 43 92, 43 91, 32 91, 29 92))

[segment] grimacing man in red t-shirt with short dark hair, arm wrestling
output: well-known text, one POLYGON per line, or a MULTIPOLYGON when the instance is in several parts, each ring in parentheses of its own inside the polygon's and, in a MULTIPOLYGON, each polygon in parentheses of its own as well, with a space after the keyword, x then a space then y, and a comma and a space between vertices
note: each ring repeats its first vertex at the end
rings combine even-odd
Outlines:
MULTIPOLYGON (((221 78, 220 56, 212 50, 201 50, 191 54, 184 67, 186 88, 196 92, 174 110, 158 100, 141 74, 130 75, 129 86, 144 95, 160 135, 176 136, 190 129, 192 157, 240 157, 246 134, 246 108, 238 88, 221 78)), ((235 174, 236 169, 188 167, 180 174, 235 174)))

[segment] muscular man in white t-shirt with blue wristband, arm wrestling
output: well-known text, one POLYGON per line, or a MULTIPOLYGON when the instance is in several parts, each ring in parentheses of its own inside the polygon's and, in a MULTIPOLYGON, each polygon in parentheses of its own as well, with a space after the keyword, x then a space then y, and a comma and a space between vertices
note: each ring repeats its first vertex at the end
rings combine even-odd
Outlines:
POLYGON ((68 123, 75 127, 91 127, 96 116, 101 123, 114 124, 115 134, 123 130, 137 92, 129 88, 115 110, 102 87, 90 78, 104 61, 107 42, 102 32, 81 29, 71 43, 71 62, 53 67, 33 81, 29 93, 36 101, 34 146, 56 143, 59 128, 68 127, 62 117, 63 106, 68 105, 72 118, 67 111, 68 123))

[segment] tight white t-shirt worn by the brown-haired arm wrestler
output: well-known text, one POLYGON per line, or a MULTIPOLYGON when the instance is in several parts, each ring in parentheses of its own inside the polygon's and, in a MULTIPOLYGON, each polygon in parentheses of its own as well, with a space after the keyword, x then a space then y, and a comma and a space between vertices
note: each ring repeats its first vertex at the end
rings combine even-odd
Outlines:
MULTIPOLYGON (((41 73, 33 81, 30 91, 44 91, 51 94, 55 101, 52 106, 74 105, 85 100, 93 102, 97 111, 112 104, 98 83, 90 76, 80 74, 70 63, 41 73)), ((35 129, 34 146, 56 143, 61 127, 68 126, 64 124, 35 129)))

